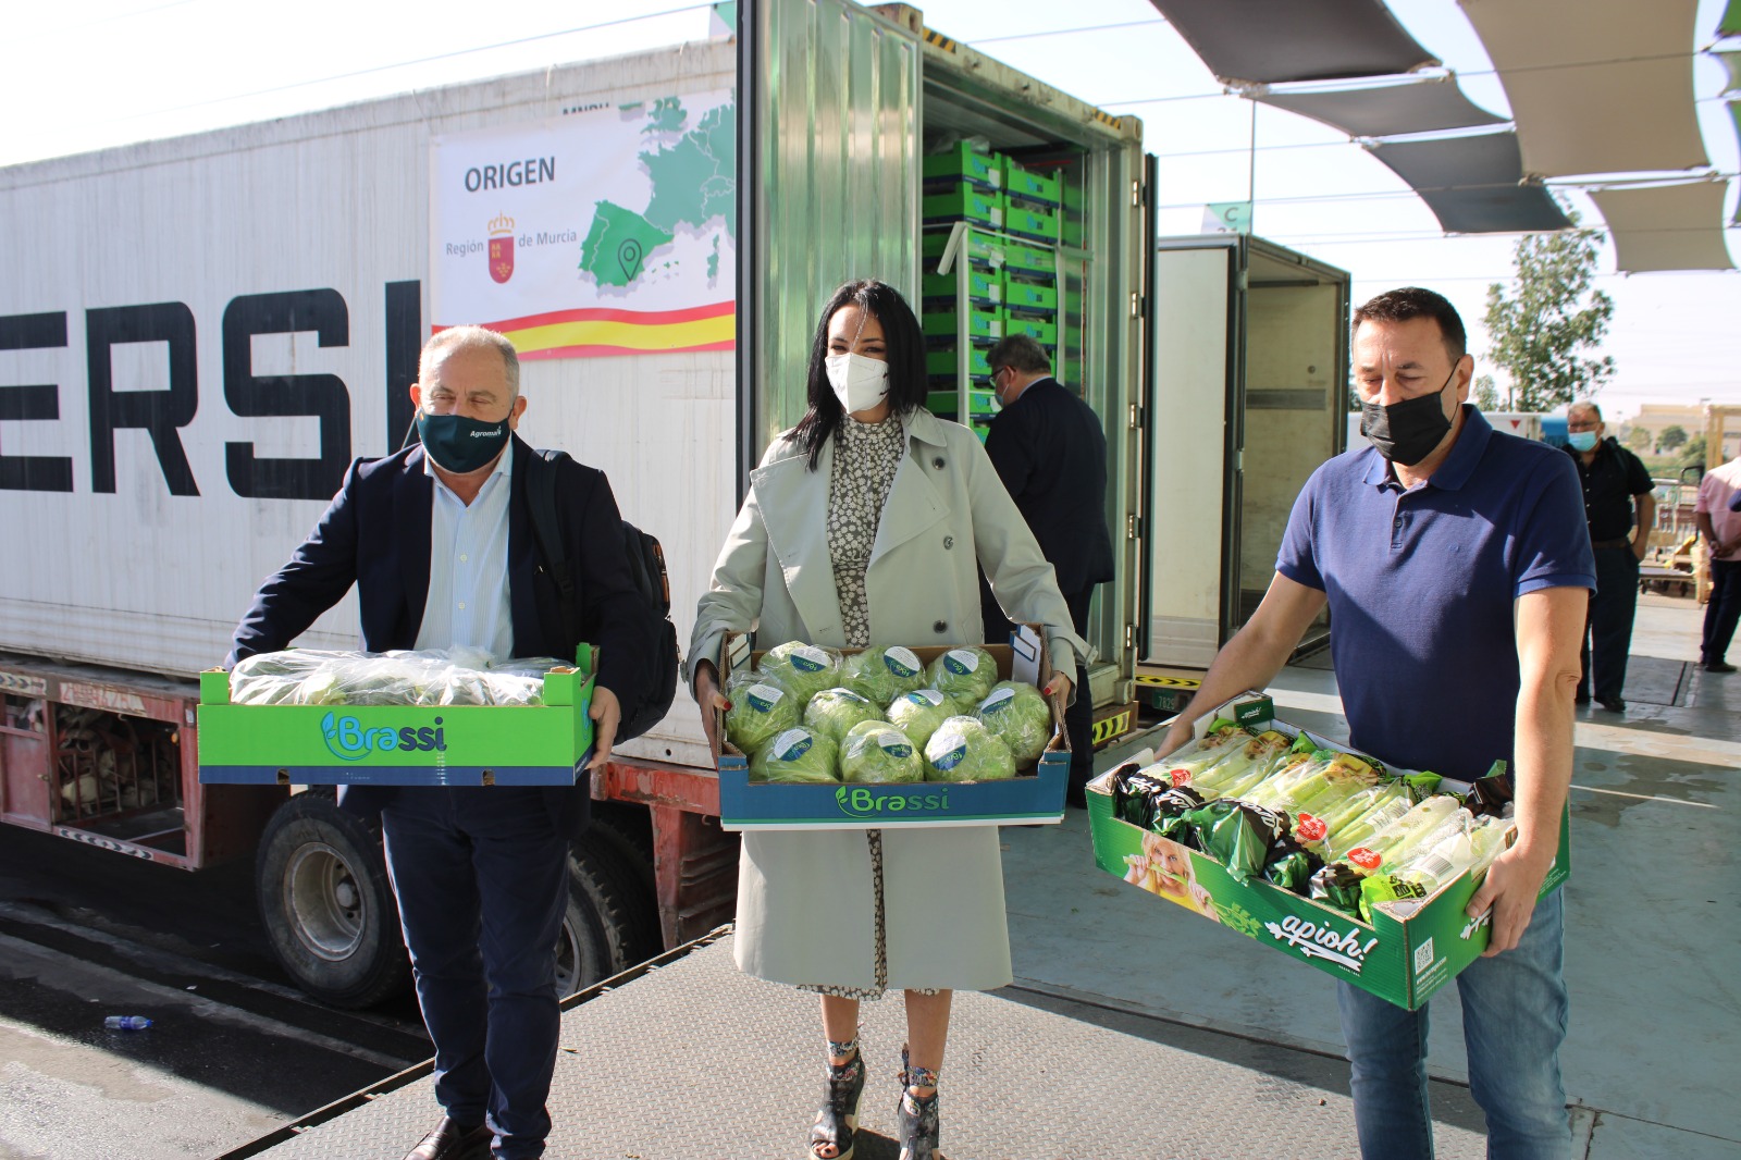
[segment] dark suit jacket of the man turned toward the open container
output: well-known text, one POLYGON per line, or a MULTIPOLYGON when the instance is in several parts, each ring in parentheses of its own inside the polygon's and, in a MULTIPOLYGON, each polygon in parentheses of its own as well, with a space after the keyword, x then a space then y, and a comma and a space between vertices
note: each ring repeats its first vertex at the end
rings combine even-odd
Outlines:
POLYGON ((1055 378, 1036 380, 999 411, 985 453, 1059 573, 1064 596, 1112 578, 1106 531, 1106 430, 1055 378))

